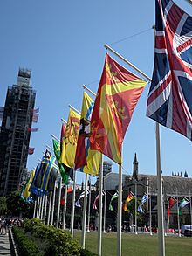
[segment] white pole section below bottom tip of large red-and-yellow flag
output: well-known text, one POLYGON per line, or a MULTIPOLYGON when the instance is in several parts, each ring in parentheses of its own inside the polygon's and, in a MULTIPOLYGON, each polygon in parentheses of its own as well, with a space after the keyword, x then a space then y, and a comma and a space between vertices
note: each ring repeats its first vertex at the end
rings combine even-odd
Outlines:
POLYGON ((122 167, 119 164, 119 197, 117 218, 117 256, 121 256, 121 225, 122 225, 122 167))

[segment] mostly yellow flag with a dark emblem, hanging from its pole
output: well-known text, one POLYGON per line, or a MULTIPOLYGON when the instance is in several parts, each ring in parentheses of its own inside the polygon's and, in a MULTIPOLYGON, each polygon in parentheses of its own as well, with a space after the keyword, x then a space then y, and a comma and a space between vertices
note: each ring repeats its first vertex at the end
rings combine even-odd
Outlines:
POLYGON ((60 162, 69 168, 74 167, 75 152, 77 148, 79 134, 80 115, 70 108, 70 113, 65 129, 65 138, 63 141, 60 162))

